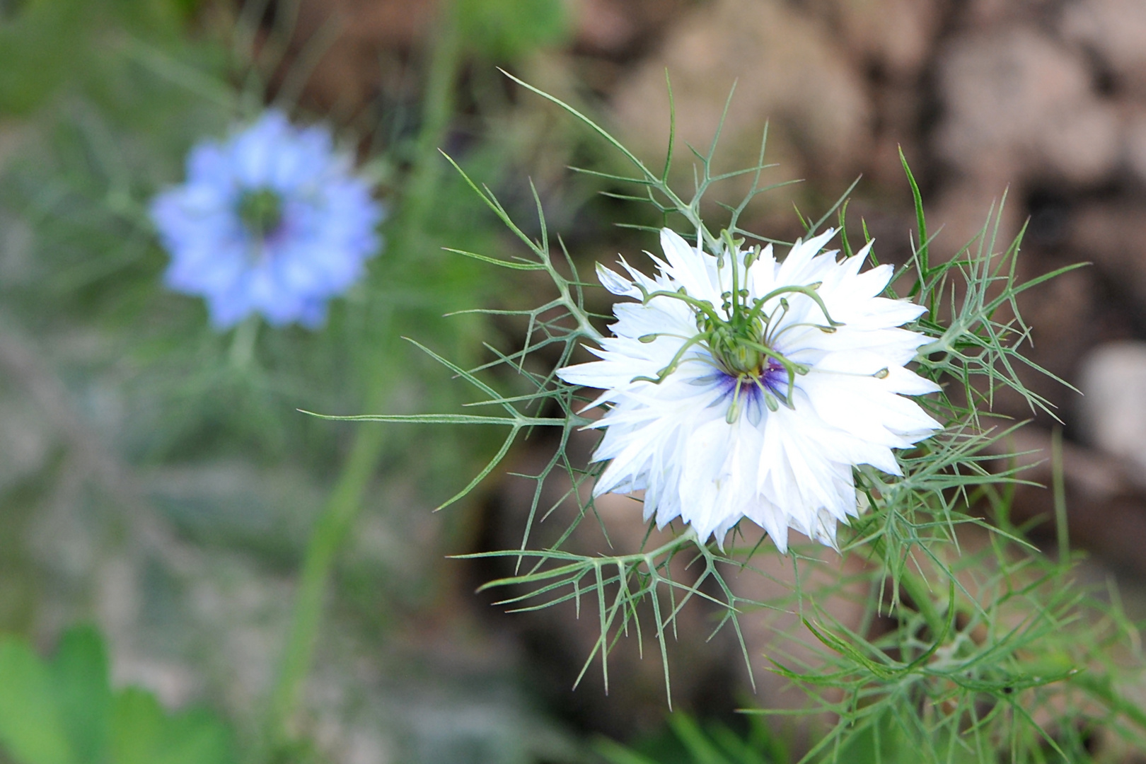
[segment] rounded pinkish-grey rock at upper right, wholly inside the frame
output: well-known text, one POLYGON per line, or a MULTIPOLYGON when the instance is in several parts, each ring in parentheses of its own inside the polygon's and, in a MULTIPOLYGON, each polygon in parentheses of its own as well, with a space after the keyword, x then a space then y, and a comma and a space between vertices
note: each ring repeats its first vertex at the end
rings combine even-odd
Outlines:
POLYGON ((941 56, 945 116, 939 156, 960 172, 1075 186, 1106 179, 1118 159, 1113 107, 1092 90, 1081 55, 1028 27, 958 38, 941 56))

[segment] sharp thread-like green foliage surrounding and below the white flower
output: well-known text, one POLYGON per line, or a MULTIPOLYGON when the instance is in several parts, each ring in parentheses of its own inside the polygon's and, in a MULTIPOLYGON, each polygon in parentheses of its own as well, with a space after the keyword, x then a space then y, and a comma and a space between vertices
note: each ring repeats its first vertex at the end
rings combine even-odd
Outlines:
MULTIPOLYGON (((682 196, 668 184, 672 141, 664 168, 654 172, 586 115, 511 79, 565 110, 631 166, 630 175, 582 171, 611 184, 638 189, 634 195, 610 191, 612 196, 652 205, 664 225, 683 223, 684 237, 699 238, 714 254, 722 251, 722 238, 728 235, 772 241, 739 226, 752 198, 778 186, 759 182, 768 166, 763 164, 767 131, 756 166, 740 172, 712 172, 720 129, 707 152, 689 147, 697 183, 691 196, 682 196), (752 188, 738 206, 724 207, 727 218, 722 233, 716 234, 701 220, 701 198, 712 184, 744 174, 752 176, 752 188)), ((856 468, 856 485, 868 509, 853 525, 850 538, 845 537, 842 551, 863 560, 858 574, 845 576, 832 566, 825 575, 813 575, 824 561, 796 548, 790 553, 794 584, 788 594, 767 602, 749 601, 735 593, 730 577, 756 569, 754 560, 776 552, 737 533, 723 549, 715 542, 699 543, 690 529, 653 546, 647 544, 653 530, 650 526, 646 544, 633 553, 583 554, 565 549, 579 523, 595 517, 592 502, 583 498, 588 491, 582 489, 596 480, 603 465, 586 467, 570 457, 572 431, 589 424, 579 413, 589 399, 555 372, 567 364, 578 345, 601 338, 594 324, 605 316, 586 308, 583 290, 591 284, 581 279, 559 237, 552 237, 555 246, 536 190, 536 233, 532 234, 513 220, 488 187, 462 172, 528 254, 499 258, 455 251, 490 266, 544 273, 555 291, 537 308, 509 312, 527 321, 521 349, 495 351, 492 361, 471 369, 432 354, 482 395, 476 405, 494 407, 499 415, 356 418, 508 427, 494 459, 450 501, 488 475, 519 434, 533 427, 559 430, 551 460, 537 474, 525 475, 536 482, 537 490, 520 548, 481 554, 516 561, 517 574, 486 586, 505 588, 502 604, 519 611, 573 602, 580 614, 582 602, 587 604, 599 623, 599 638, 581 676, 599 659, 606 687, 611 647, 622 637, 643 640, 647 635, 660 653, 670 701, 668 644, 676 635, 677 615, 691 600, 705 600, 720 611, 716 629, 731 627, 736 632, 749 674, 740 630, 745 614, 778 609, 801 615, 794 630, 777 635, 769 657, 775 671, 808 692, 809 707, 793 712, 837 719, 803 762, 1084 761, 1085 735, 1080 731, 1092 725, 1116 730, 1133 745, 1146 746, 1146 715, 1121 696, 1121 669, 1110 657, 1135 644, 1133 629, 1116 598, 1107 597, 1110 604, 1102 605, 1102 599, 1074 585, 1069 554, 1058 561, 1046 558, 1008 519, 1010 491, 1020 479, 1006 466, 1006 457, 999 456, 1005 450, 999 443, 1012 425, 994 422, 990 404, 995 391, 1004 387, 1023 395, 1033 408, 1046 408, 1018 371, 1025 363, 1020 348, 1029 330, 1015 297, 1062 270, 1019 282, 1015 258, 1021 237, 999 252, 998 216, 994 222, 989 219, 980 236, 955 257, 931 257, 918 188, 905 163, 904 168, 916 195, 919 231, 915 254, 900 275, 912 284, 909 296, 929 308, 926 317, 909 328, 934 338, 919 349, 915 363, 919 373, 943 386, 943 392, 921 402, 944 427, 917 448, 897 454, 900 476, 856 468), (485 380, 495 369, 513 372, 526 389, 499 392, 485 380), (542 505, 542 487, 558 478, 567 481, 567 487, 555 504, 542 505), (578 505, 578 511, 565 513, 565 530, 541 549, 531 546, 534 526, 557 513, 565 501, 578 505), (974 538, 982 539, 978 546, 964 546, 974 538), (670 564, 677 557, 694 572, 692 580, 674 578, 670 564), (811 581, 829 583, 808 583, 811 581), (857 591, 868 592, 866 623, 884 616, 894 627, 873 636, 835 621, 830 609, 832 598, 855 597, 857 591), (785 644, 809 641, 818 643, 815 661, 786 656, 785 644)), ((846 195, 819 220, 803 221, 808 235, 833 215, 846 231, 845 211, 846 195)), ((846 233, 841 249, 846 255, 853 252, 846 233)), ((607 538, 603 523, 602 530, 607 538)), ((1060 546, 1067 549, 1065 541, 1060 546)), ((727 751, 719 754, 716 748, 700 746, 694 731, 685 723, 677 724, 683 726, 676 734, 696 761, 722 761, 720 756, 727 751)), ((612 753, 617 762, 626 764, 645 761, 635 754, 612 753)))

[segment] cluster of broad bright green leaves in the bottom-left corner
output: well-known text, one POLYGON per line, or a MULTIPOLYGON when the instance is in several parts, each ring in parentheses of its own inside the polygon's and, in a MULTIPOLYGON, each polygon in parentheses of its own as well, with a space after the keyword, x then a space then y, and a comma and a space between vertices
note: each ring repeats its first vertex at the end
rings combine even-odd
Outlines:
POLYGON ((50 661, 0 637, 0 750, 14 764, 230 764, 230 732, 211 712, 167 714, 150 693, 112 691, 103 640, 65 633, 50 661))

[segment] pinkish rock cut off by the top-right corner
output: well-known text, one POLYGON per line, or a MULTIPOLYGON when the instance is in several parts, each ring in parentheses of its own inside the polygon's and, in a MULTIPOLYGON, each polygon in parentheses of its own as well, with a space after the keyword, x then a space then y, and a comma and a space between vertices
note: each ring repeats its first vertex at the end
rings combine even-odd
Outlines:
POLYGON ((1146 95, 1146 3, 1077 0, 1066 5, 1062 36, 1098 55, 1115 85, 1146 95))

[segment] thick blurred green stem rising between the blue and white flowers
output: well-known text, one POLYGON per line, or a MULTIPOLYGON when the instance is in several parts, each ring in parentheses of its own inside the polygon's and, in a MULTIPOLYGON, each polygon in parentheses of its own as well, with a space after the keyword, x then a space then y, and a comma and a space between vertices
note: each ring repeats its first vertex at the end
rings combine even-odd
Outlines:
MULTIPOLYGON (((448 8, 442 22, 430 62, 422 133, 416 145, 408 191, 388 247, 388 255, 394 259, 421 257, 414 250, 417 249, 417 241, 437 196, 440 178, 437 150, 454 110, 454 81, 460 57, 460 38, 448 8)), ((392 347, 386 342, 383 345, 392 347)), ((367 401, 369 411, 380 410, 386 400, 388 385, 384 378, 384 352, 379 352, 377 362, 367 364, 372 372, 372 389, 367 401)), ((266 726, 269 754, 274 754, 280 745, 290 739, 286 726, 298 708, 311 670, 331 568, 343 539, 358 518, 362 494, 382 457, 383 434, 383 427, 377 424, 358 428, 338 482, 315 521, 303 562, 290 635, 270 695, 266 726)))

